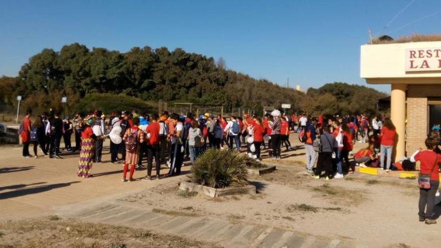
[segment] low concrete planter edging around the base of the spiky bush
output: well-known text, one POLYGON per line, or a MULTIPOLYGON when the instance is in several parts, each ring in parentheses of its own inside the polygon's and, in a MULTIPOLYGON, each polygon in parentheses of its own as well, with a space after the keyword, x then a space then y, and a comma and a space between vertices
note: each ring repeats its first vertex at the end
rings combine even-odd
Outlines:
POLYGON ((203 186, 200 184, 196 184, 193 182, 182 181, 179 183, 180 190, 186 190, 189 192, 197 192, 202 193, 209 197, 217 197, 217 196, 225 196, 225 195, 233 195, 233 194, 256 194, 256 186, 247 185, 240 188, 212 188, 203 186))

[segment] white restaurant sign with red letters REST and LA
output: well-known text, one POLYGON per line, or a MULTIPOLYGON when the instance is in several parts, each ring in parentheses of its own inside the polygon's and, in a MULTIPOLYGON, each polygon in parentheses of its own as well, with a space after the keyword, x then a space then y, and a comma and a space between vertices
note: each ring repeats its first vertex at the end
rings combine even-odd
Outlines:
POLYGON ((407 49, 406 72, 441 71, 441 48, 407 49))

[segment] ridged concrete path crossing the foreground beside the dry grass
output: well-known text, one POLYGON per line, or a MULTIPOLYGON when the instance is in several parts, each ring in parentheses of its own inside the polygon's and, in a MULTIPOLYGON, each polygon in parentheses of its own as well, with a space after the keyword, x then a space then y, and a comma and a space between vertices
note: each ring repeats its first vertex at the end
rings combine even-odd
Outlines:
POLYGON ((146 228, 216 242, 225 247, 352 247, 338 239, 326 239, 270 226, 230 222, 208 216, 176 216, 130 203, 109 202, 68 214, 90 222, 146 228))

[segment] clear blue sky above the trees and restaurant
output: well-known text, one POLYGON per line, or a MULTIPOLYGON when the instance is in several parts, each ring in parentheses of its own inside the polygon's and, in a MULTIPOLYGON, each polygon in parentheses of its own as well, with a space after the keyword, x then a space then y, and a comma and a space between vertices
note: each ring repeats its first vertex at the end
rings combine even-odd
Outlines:
POLYGON ((179 47, 223 57, 229 69, 258 79, 286 85, 289 77, 291 87, 303 89, 366 85, 359 61, 369 28, 397 38, 440 33, 440 24, 440 0, 2 0, 0 75, 17 76, 44 48, 78 42, 120 52, 179 47))

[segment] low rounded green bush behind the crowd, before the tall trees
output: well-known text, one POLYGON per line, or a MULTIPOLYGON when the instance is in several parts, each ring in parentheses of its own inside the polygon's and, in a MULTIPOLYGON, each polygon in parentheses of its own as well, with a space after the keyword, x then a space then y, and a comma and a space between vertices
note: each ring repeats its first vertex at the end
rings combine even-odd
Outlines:
POLYGON ((134 109, 140 112, 157 112, 156 107, 152 106, 152 104, 123 94, 88 94, 80 100, 79 112, 89 113, 97 109, 103 111, 104 114, 114 111, 132 111, 134 109))

